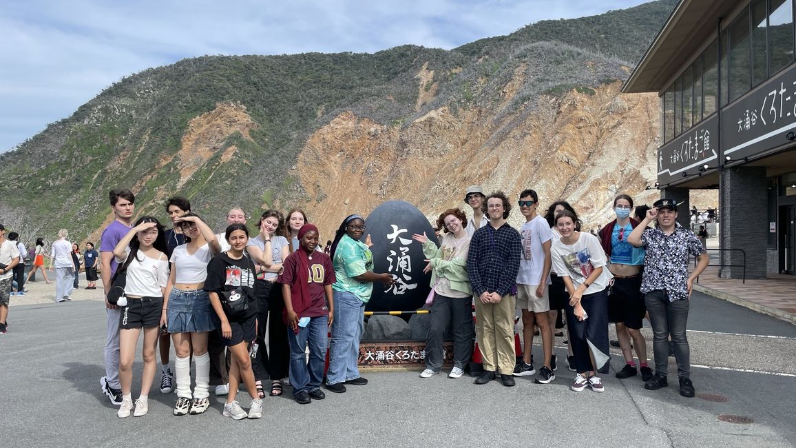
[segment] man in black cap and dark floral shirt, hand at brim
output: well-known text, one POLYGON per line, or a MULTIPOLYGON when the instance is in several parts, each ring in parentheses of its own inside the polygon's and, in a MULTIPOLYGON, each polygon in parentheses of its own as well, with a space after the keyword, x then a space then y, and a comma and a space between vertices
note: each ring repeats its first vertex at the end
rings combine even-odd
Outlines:
POLYGON ((677 360, 677 377, 680 379, 680 395, 693 397, 685 324, 689 318, 693 281, 708 267, 708 254, 699 238, 677 222, 677 202, 672 199, 655 201, 653 208, 647 211, 646 218, 630 233, 627 241, 646 250, 642 293, 654 333, 655 375, 644 387, 655 391, 669 385, 666 381, 669 363, 667 337, 671 336, 674 359, 677 360), (657 226, 648 229, 647 226, 654 220, 657 220, 657 226), (691 275, 689 254, 697 257, 696 268, 691 275))

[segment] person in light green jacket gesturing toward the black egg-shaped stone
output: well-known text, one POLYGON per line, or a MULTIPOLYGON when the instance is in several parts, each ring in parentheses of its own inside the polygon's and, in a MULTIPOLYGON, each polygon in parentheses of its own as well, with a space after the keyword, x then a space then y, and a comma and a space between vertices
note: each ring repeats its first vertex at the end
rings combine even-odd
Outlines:
POLYGON ((467 220, 459 209, 445 210, 437 226, 444 228, 440 246, 429 241, 426 234, 412 238, 423 244, 423 254, 428 257, 424 273, 431 271, 431 325, 426 336, 426 368, 420 378, 438 374, 443 366, 443 333, 448 324, 453 328, 454 367, 448 375, 459 378, 473 356, 473 289, 467 277, 467 253, 470 235, 465 227, 467 220))

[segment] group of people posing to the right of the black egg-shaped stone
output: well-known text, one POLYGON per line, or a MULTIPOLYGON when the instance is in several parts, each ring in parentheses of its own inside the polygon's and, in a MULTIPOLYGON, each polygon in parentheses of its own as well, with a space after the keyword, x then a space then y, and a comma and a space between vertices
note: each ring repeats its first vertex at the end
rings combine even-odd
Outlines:
POLYGON ((599 374, 608 372, 608 324, 613 322, 626 363, 617 378, 638 375, 640 370, 646 389, 668 386, 671 340, 680 394, 694 396, 685 325, 693 281, 709 260, 696 235, 677 223, 676 202, 660 199, 652 208, 639 206, 634 218, 633 198, 618 195, 613 202, 616 218, 595 236, 580 231, 581 222, 568 202, 553 202, 542 216, 533 190, 522 191, 517 200, 525 217, 519 230, 506 222, 513 207, 502 192, 486 196, 480 187, 471 186, 464 201, 473 218, 467 220, 461 209, 444 211, 438 220, 443 231, 439 247, 425 234, 413 235, 429 260, 426 272, 431 271, 434 294, 421 378, 441 370, 443 333, 449 325, 454 366, 448 376, 462 376, 474 350, 474 303, 484 370, 476 384, 499 375, 501 383, 510 387, 515 384, 513 376, 537 375, 531 352, 534 328, 541 336, 544 356, 536 382, 556 379, 553 328, 558 311, 564 309, 568 366, 576 372, 573 391, 587 387, 604 391, 599 374), (697 260, 691 273, 689 256, 697 260), (525 350, 522 360, 515 362, 517 310, 521 310, 525 350), (654 371, 647 364, 640 331, 645 317, 654 333, 654 371))

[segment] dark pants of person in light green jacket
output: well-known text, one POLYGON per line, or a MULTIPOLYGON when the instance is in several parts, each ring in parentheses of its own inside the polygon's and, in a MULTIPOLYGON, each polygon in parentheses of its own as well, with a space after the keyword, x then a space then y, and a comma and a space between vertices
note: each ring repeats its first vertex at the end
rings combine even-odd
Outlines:
POLYGON ((473 356, 473 298, 446 297, 434 293, 431 304, 431 325, 426 336, 426 367, 439 371, 443 367, 443 334, 453 328, 453 365, 462 370, 473 356))

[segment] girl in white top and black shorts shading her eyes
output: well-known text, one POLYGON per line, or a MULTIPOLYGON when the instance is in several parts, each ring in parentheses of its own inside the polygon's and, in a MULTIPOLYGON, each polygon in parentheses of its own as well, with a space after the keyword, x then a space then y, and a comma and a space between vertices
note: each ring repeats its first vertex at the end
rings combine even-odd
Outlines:
POLYGON ((157 362, 155 349, 158 346, 158 324, 163 306, 163 293, 169 277, 169 261, 166 260, 166 233, 157 219, 150 216, 139 218, 127 235, 119 240, 113 250, 119 269, 127 275, 124 286, 125 298, 119 300, 119 383, 122 385, 122 405, 116 415, 129 417, 133 410, 131 388, 133 362, 139 335, 144 333, 141 374, 141 395, 135 400, 133 415, 140 417, 148 411, 148 396, 154 380, 157 362), (129 246, 129 247, 128 247, 129 246), (129 250, 129 253, 128 253, 129 250))

